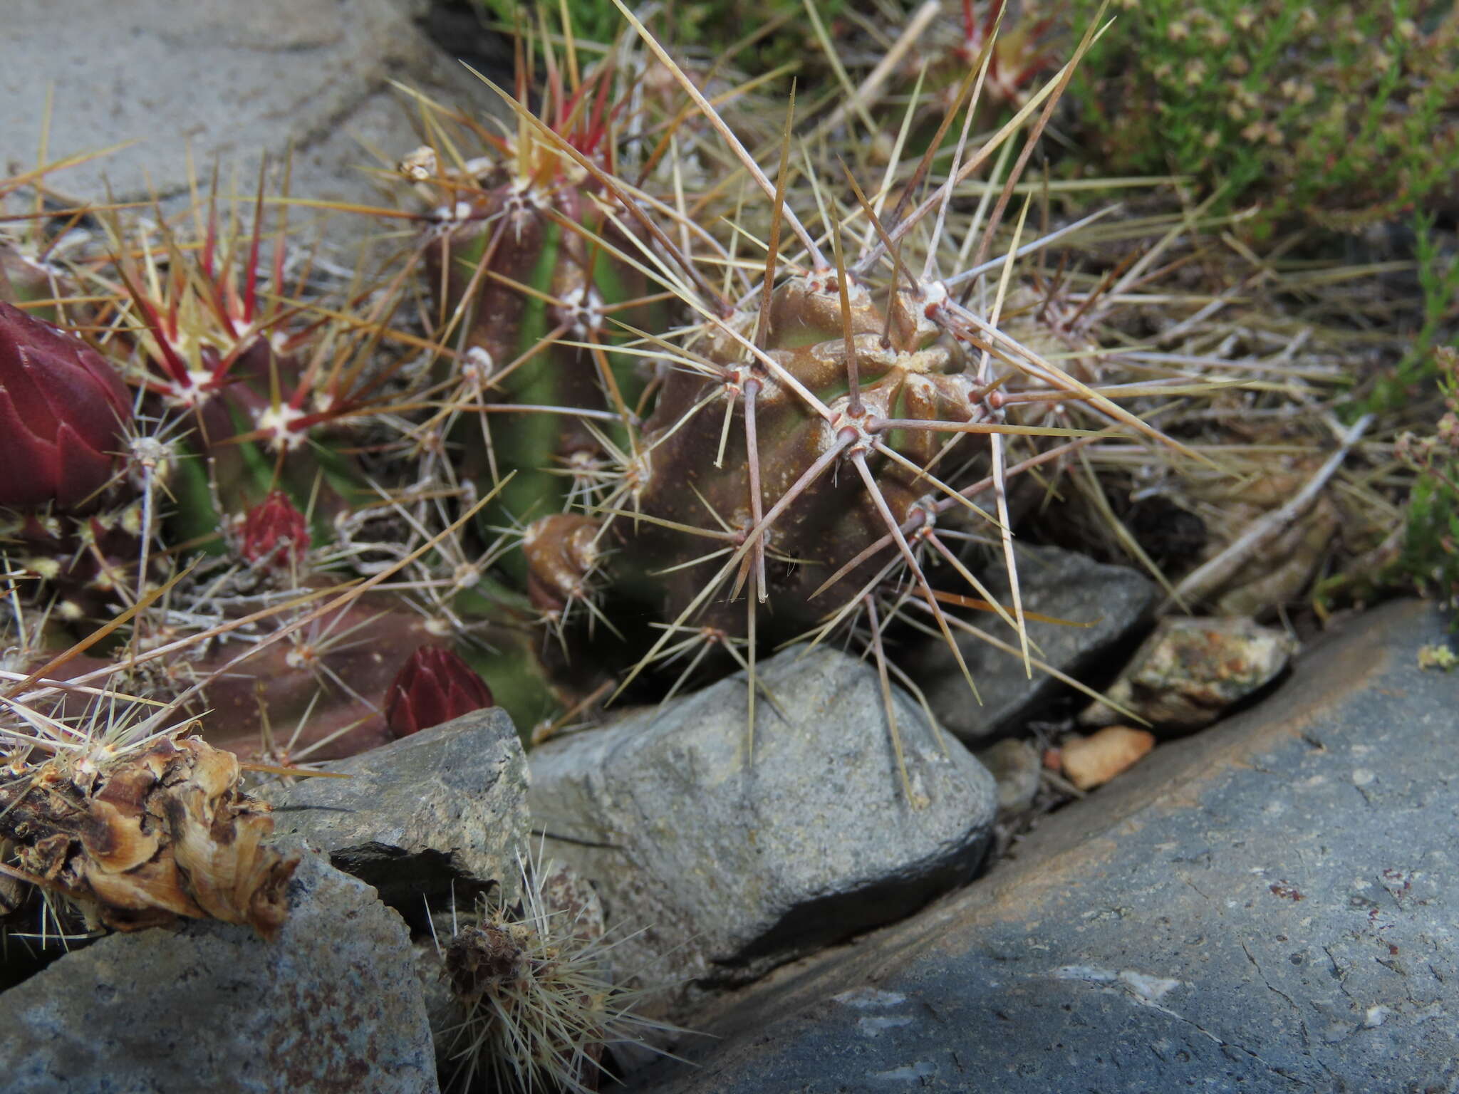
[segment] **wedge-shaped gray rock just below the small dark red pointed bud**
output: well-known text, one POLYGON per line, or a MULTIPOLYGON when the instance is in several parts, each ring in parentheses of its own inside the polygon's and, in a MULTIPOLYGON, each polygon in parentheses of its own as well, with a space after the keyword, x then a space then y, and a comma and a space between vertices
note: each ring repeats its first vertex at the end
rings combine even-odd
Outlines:
POLYGON ((420 907, 452 882, 515 888, 527 846, 527 759, 500 707, 321 764, 347 779, 268 789, 274 830, 299 836, 379 890, 394 907, 420 907))

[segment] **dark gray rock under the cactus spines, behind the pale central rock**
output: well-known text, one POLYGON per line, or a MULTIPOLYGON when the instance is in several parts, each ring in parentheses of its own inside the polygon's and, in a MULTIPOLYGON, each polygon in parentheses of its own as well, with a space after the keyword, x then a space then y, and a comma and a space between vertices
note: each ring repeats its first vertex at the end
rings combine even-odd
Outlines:
MULTIPOLYGON (((989 576, 988 591, 999 604, 1013 604, 1007 575, 998 567, 989 576)), ((1106 566, 1059 547, 1024 547, 1018 551, 1018 588, 1027 611, 1093 623, 1090 627, 1065 627, 1055 623, 1029 623, 1029 637, 1043 651, 1042 659, 1072 677, 1097 668, 1112 649, 1131 642, 1158 600, 1158 586, 1126 566, 1106 566)), ((978 621, 983 630, 1017 645, 1018 636, 996 616, 978 621)), ((967 690, 957 661, 941 642, 928 645, 919 658, 918 680, 932 713, 969 744, 979 747, 1023 726, 1055 697, 1069 688, 1037 668, 1033 678, 1024 674, 1023 659, 959 635, 957 648, 973 674, 982 706, 967 690)))

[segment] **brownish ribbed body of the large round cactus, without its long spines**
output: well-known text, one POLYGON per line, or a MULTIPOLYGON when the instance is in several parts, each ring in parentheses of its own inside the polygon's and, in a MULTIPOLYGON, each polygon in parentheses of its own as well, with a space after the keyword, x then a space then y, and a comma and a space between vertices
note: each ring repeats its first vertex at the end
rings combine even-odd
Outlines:
MULTIPOLYGON (((711 353, 727 372, 743 373, 741 388, 757 387, 762 512, 769 512, 817 459, 832 451, 845 429, 884 419, 967 422, 975 411, 979 384, 967 371, 967 356, 926 319, 921 299, 902 292, 889 305, 852 284, 851 331, 862 403, 862 414, 855 416, 849 407, 848 353, 835 279, 836 274, 829 273, 794 277, 781 284, 772 298, 765 340, 769 356, 833 411, 832 422, 763 366, 741 363, 746 354, 737 341, 721 338, 711 353)), ((651 465, 636 502, 643 513, 680 525, 713 527, 718 513, 731 528, 746 531, 751 525, 751 476, 744 401, 734 410, 722 467, 715 465, 722 401, 709 403, 692 422, 678 426, 716 384, 722 381, 689 372, 665 379, 645 426, 651 465)), ((945 441, 945 435, 935 432, 890 430, 884 436, 884 443, 924 468, 937 461, 945 441)), ((966 459, 967 454, 959 458, 966 459)), ((868 452, 867 461, 899 524, 932 493, 929 483, 890 457, 868 452)), ((708 553, 706 540, 658 524, 633 525, 623 518, 614 522, 614 532, 632 547, 617 553, 611 565, 629 569, 626 579, 635 585, 651 579, 648 569, 665 570, 708 553)), ((842 468, 824 474, 804 489, 775 519, 767 537, 767 582, 776 630, 801 630, 854 597, 886 565, 884 556, 861 562, 814 600, 811 594, 886 532, 877 502, 855 471, 842 468)), ((699 595, 716 565, 687 566, 652 578, 662 588, 664 611, 670 618, 699 595)), ((721 600, 700 621, 744 633, 744 607, 721 600)))

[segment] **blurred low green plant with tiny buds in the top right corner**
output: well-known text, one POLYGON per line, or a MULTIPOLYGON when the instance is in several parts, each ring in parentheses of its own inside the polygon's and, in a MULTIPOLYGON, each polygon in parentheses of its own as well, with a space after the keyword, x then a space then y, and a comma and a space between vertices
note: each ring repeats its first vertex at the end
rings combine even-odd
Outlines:
MULTIPOLYGON (((1075 0, 1071 22, 1094 18, 1075 0)), ((1430 0, 1125 0, 1071 85, 1104 174, 1354 228, 1459 176, 1459 16, 1430 0)))

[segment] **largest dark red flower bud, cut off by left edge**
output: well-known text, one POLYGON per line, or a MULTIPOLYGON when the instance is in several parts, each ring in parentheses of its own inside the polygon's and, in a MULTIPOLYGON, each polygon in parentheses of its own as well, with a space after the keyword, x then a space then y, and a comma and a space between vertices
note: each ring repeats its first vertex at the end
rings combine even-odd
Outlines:
POLYGON ((0 302, 0 506, 85 502, 111 478, 130 417, 127 388, 105 357, 0 302))

